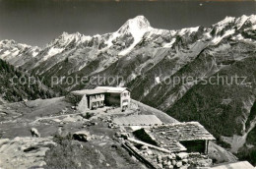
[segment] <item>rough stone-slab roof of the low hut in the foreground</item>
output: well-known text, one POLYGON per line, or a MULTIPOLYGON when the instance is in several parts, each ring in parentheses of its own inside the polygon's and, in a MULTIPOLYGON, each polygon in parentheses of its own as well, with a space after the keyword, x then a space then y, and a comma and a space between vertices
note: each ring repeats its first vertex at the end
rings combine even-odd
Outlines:
POLYGON ((134 134, 142 140, 155 142, 160 147, 171 152, 186 150, 182 145, 182 141, 215 140, 198 122, 157 125, 151 128, 140 129, 135 131, 134 134))

